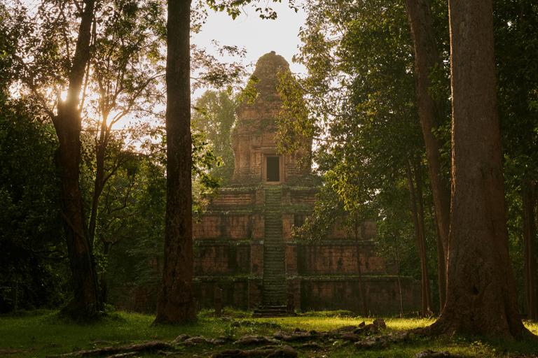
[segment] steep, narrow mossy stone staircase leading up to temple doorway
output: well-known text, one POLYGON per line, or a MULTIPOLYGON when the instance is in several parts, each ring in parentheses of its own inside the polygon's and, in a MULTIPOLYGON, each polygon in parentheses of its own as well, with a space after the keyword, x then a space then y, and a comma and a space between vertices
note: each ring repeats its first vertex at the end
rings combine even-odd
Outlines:
POLYGON ((265 189, 265 240, 263 243, 263 306, 286 301, 286 252, 282 237, 282 189, 265 189))

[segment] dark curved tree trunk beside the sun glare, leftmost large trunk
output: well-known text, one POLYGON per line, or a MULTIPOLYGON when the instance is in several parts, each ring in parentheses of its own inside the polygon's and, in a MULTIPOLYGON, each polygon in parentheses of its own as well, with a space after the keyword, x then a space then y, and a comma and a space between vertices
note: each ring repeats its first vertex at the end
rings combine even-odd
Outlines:
POLYGON ((69 73, 66 101, 59 100, 57 115, 53 117, 59 147, 55 163, 62 179, 58 201, 64 217, 69 263, 73 275, 74 298, 64 308, 71 315, 92 317, 104 306, 99 295, 97 272, 88 234, 88 223, 83 210, 78 169, 81 160, 81 108, 79 96, 90 58, 90 29, 94 16, 94 0, 86 0, 78 31, 75 55, 69 73))

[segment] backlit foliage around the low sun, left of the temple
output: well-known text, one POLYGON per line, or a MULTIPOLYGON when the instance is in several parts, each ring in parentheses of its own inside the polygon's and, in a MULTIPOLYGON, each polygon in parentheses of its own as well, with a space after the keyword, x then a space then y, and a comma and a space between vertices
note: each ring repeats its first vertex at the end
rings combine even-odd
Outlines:
MULTIPOLYGON (((43 119, 49 120, 62 115, 64 94, 74 77, 81 75, 83 124, 77 124, 77 130, 84 152, 79 185, 88 215, 88 228, 81 231, 89 232, 93 251, 89 255, 97 257, 102 289, 106 291, 104 273, 109 250, 124 238, 132 239, 127 227, 144 224, 140 217, 155 209, 139 202, 146 179, 141 174, 145 164, 139 150, 158 157, 159 165, 166 164, 163 127, 151 124, 163 118, 166 8, 160 0, 99 1, 90 17, 90 45, 81 50, 88 52, 88 65, 84 75, 74 75, 71 69, 81 6, 84 4, 48 0, 37 4, 13 1, 7 7, 2 4, 0 72, 2 85, 13 83, 18 96, 32 98, 43 119), (129 128, 113 129, 127 118, 132 120, 129 128), (144 138, 148 135, 153 141, 144 138), (136 141, 142 143, 140 148, 134 145, 136 141), (132 220, 134 217, 137 220, 132 220)), ((192 11, 191 29, 198 31, 204 10, 198 3, 192 11)), ((205 49, 193 46, 191 50, 191 68, 202 71, 197 78, 200 85, 225 86, 240 80, 242 64, 221 64, 205 49)), ((225 52, 244 56, 244 50, 235 46, 219 49, 220 55, 225 52)), ((49 135, 54 136, 54 131, 49 135)), ((53 163, 52 157, 48 159, 53 163)), ((193 159, 192 170, 200 178, 202 196, 214 195, 218 181, 209 176, 207 168, 216 158, 200 136, 193 142, 193 159)), ((164 176, 163 171, 160 175, 164 176)), ((195 201, 194 209, 200 210, 202 204, 195 201)), ((151 224, 154 222, 159 220, 151 224)), ((162 222, 156 227, 156 235, 160 229, 162 222)), ((103 295, 106 298, 106 293, 103 295)))

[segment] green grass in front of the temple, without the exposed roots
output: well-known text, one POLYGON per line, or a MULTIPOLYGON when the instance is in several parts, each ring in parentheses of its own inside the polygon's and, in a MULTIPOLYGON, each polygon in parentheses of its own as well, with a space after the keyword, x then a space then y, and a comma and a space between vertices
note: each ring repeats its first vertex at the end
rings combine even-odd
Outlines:
MULTIPOLYGON (((354 317, 345 312, 307 313, 298 317, 252 319, 249 313, 226 309, 223 315, 232 317, 223 320, 213 317, 210 311, 202 311, 199 321, 190 324, 161 325, 151 327, 153 315, 137 313, 111 313, 108 317, 94 323, 76 323, 61 317, 57 311, 36 311, 19 313, 17 315, 0 316, 0 356, 8 357, 46 357, 60 355, 77 350, 88 350, 109 345, 128 345, 149 341, 165 341, 170 343, 179 334, 189 336, 233 336, 239 338, 246 334, 272 336, 276 331, 291 331, 306 329, 329 331, 343 326, 354 325, 366 321, 371 323, 375 318, 354 317), (250 325, 242 324, 233 327, 233 320, 242 322, 249 320, 250 325), (106 343, 103 343, 106 342, 106 343)), ((385 317, 387 329, 381 334, 392 331, 403 331, 424 327, 434 320, 420 318, 390 318, 385 317)), ((538 334, 538 324, 526 322, 525 325, 534 334, 538 334)), ((336 338, 329 341, 319 338, 319 348, 299 348, 305 341, 293 341, 289 344, 296 348, 299 357, 413 357, 416 353, 429 349, 434 351, 448 350, 463 357, 537 357, 538 341, 504 341, 479 337, 453 336, 431 338, 412 334, 406 341, 392 343, 388 348, 357 350, 352 343, 336 338)), ((212 352, 224 349, 238 348, 233 341, 221 345, 198 343, 188 347, 179 345, 177 351, 169 357, 210 357, 212 352)), ((254 349, 255 345, 241 349, 254 349)), ((131 357, 164 357, 158 352, 139 353, 131 357)))

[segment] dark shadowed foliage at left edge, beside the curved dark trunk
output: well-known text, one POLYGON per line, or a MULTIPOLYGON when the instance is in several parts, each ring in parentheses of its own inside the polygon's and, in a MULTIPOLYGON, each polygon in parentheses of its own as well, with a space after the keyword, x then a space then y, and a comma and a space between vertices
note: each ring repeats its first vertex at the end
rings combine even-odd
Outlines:
POLYGON ((32 103, 1 98, 0 113, 0 312, 56 307, 69 290, 57 140, 32 103))

